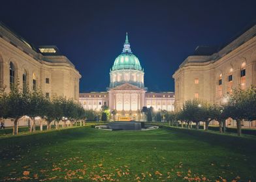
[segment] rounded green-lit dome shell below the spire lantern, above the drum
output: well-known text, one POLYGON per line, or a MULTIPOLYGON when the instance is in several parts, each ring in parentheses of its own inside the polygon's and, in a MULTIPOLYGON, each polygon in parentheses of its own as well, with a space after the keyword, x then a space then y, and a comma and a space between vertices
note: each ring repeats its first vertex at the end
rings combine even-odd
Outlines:
POLYGON ((142 70, 140 66, 140 61, 132 53, 121 53, 121 55, 119 55, 116 58, 114 65, 112 66, 112 71, 123 70, 123 69, 140 70, 140 71, 142 70))

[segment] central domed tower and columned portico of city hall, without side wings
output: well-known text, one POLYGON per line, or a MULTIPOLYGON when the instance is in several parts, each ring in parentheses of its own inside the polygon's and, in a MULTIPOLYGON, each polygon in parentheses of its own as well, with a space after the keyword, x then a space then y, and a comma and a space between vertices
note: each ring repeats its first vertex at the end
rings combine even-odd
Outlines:
POLYGON ((126 33, 123 51, 110 69, 108 106, 117 110, 116 120, 131 118, 138 120, 140 109, 145 105, 144 70, 138 58, 133 55, 126 33))

